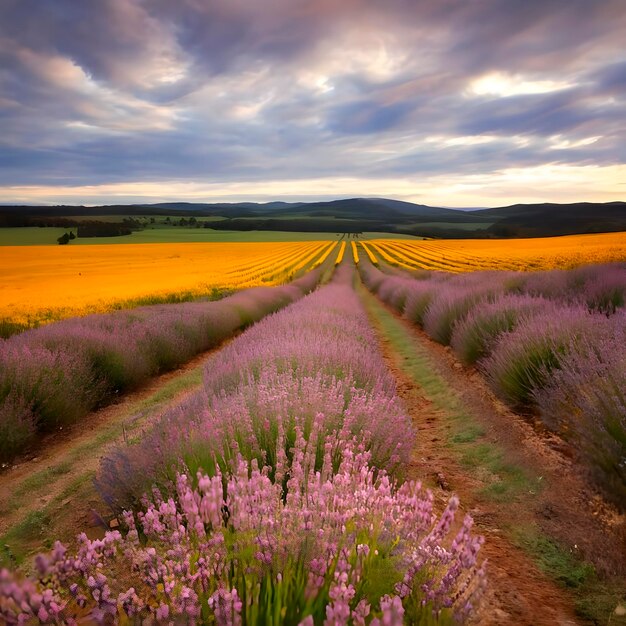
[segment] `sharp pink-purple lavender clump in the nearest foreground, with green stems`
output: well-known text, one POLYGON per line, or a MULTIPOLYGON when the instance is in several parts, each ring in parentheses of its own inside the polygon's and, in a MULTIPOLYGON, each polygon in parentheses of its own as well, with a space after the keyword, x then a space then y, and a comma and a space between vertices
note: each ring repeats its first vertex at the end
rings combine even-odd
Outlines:
POLYGON ((327 451, 315 471, 315 450, 298 433, 286 494, 270 468, 241 457, 227 475, 179 474, 172 497, 155 492, 142 512, 124 514, 125 535, 83 535, 72 556, 57 544, 38 558, 36 582, 2 572, 0 616, 8 623, 463 621, 485 585, 471 518, 448 539, 456 498, 437 518, 419 483, 398 486, 361 447, 344 444, 337 470, 327 451))

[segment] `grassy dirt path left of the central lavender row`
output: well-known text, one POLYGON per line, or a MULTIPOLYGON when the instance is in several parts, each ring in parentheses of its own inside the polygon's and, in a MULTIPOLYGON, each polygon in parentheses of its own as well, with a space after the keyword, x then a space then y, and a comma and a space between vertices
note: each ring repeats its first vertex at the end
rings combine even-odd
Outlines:
POLYGON ((71 543, 81 531, 102 534, 105 510, 92 486, 100 460, 198 389, 205 362, 229 341, 44 439, 30 458, 0 473, 0 565, 20 563, 53 538, 71 543))

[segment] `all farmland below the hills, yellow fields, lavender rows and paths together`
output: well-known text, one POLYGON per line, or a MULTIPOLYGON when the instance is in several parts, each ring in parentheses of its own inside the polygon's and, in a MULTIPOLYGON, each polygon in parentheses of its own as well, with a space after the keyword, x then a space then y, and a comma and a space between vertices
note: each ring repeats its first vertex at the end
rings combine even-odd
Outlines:
POLYGON ((336 239, 0 248, 8 623, 620 623, 624 235, 336 239))

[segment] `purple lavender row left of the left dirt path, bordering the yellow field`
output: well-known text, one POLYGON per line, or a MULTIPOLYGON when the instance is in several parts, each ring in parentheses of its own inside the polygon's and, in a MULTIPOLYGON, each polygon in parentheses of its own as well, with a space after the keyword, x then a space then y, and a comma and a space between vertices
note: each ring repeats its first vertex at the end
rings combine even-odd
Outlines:
POLYGON ((216 302, 66 319, 0 340, 0 461, 299 299, 320 271, 216 302))

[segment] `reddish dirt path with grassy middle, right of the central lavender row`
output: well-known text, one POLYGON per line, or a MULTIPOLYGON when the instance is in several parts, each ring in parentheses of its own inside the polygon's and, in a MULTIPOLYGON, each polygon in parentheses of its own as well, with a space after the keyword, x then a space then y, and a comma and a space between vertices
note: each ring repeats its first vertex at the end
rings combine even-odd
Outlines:
POLYGON ((498 402, 478 374, 370 294, 364 299, 419 431, 414 477, 427 477, 442 506, 457 493, 485 536, 490 584, 478 623, 565 626, 612 613, 615 594, 600 586, 585 601, 608 606, 587 607, 581 617, 574 608, 580 598, 546 575, 533 552, 545 552, 540 559, 566 584, 589 578, 580 559, 619 580, 624 519, 590 491, 555 440, 498 402))

